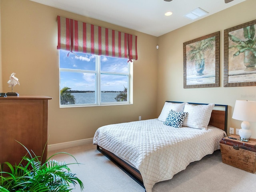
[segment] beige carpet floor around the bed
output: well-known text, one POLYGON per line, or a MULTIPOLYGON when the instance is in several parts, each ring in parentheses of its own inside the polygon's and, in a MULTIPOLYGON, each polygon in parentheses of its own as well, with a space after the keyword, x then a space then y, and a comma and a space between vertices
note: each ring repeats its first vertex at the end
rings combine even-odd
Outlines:
MULTIPOLYGON (((58 151, 50 151, 48 157, 56 152, 72 154, 80 165, 72 164, 72 173, 84 183, 84 192, 145 192, 139 184, 124 173, 96 146, 87 144, 58 151)), ((54 156, 59 162, 74 163, 75 160, 59 154, 54 156)), ((72 190, 79 192, 80 188, 72 190)), ((222 163, 220 150, 192 162, 186 170, 174 175, 171 180, 156 183, 153 192, 254 192, 256 174, 240 170, 222 163)))

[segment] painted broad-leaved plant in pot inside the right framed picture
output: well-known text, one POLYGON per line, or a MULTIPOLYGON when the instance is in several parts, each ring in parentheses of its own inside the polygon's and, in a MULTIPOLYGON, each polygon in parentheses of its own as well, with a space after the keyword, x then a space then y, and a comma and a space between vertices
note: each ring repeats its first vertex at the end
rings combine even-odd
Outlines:
POLYGON ((256 70, 256 36, 255 36, 255 25, 247 26, 243 28, 244 40, 228 34, 229 39, 236 43, 236 45, 229 46, 229 49, 236 48, 236 52, 233 54, 234 57, 240 53, 244 53, 244 71, 256 70))

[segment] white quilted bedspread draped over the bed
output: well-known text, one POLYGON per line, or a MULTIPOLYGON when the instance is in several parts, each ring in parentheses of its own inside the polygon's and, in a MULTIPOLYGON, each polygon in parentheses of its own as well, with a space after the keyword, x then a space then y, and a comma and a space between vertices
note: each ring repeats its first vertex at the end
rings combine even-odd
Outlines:
POLYGON ((93 144, 131 162, 141 173, 146 192, 156 182, 169 180, 190 162, 219 149, 225 132, 172 128, 158 119, 112 124, 98 128, 93 144))

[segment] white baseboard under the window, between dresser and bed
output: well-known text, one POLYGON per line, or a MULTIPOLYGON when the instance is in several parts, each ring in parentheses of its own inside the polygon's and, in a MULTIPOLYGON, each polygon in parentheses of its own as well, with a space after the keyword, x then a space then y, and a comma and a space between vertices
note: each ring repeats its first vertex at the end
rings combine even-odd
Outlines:
POLYGON ((76 147, 76 146, 85 145, 85 144, 92 144, 92 140, 93 138, 89 138, 89 139, 81 139, 81 140, 69 141, 64 143, 51 144, 51 145, 48 145, 48 151, 76 147))

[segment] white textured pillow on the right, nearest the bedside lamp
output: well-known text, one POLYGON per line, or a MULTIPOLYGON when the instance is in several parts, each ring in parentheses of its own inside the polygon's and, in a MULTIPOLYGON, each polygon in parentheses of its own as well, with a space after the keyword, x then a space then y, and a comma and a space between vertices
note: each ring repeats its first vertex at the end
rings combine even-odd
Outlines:
POLYGON ((213 108, 213 103, 208 105, 190 105, 186 103, 184 112, 188 112, 188 115, 183 122, 183 126, 206 130, 213 108))

